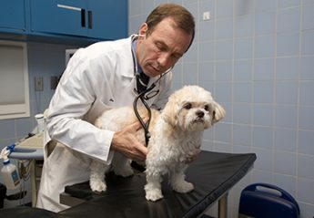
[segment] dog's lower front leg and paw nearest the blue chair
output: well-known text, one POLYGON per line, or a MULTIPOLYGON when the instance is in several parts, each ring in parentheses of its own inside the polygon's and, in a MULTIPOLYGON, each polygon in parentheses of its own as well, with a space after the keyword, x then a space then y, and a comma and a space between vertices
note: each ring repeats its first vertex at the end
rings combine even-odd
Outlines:
POLYGON ((176 192, 187 193, 194 190, 194 185, 185 180, 186 175, 184 169, 180 171, 172 171, 170 175, 170 184, 176 192))

